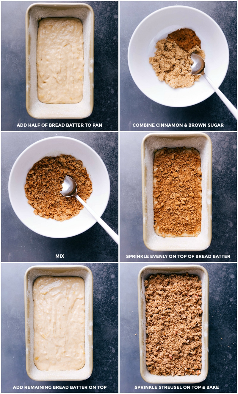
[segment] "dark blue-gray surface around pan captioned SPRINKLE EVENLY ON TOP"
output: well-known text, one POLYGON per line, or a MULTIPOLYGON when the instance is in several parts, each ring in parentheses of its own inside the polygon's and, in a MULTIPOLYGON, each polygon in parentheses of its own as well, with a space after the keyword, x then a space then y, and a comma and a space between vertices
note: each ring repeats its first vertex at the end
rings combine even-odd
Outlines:
MULTIPOLYGON (((209 248, 193 252, 192 259, 126 258, 129 254, 156 254, 147 249, 143 242, 141 141, 146 134, 120 133, 120 261, 237 261, 236 133, 233 132, 207 133, 212 140, 212 242, 209 248), (211 258, 196 258, 196 254, 211 254, 211 258), (213 254, 231 257, 213 259, 213 254)), ((169 255, 168 252, 166 254, 169 255)), ((188 256, 189 253, 185 254, 188 256)))

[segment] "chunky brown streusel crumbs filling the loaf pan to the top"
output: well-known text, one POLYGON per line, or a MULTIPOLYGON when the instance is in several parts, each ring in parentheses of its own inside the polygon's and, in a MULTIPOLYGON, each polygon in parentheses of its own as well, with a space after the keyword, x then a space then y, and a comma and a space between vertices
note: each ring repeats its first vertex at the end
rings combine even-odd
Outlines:
POLYGON ((145 280, 146 365, 153 375, 200 375, 201 281, 196 275, 145 280))

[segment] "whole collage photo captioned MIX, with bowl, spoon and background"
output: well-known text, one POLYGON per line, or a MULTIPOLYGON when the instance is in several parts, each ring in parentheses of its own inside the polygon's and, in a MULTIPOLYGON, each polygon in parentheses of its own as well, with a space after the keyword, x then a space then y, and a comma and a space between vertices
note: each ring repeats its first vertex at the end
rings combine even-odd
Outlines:
POLYGON ((118 133, 2 133, 3 262, 118 262, 117 215, 118 133))

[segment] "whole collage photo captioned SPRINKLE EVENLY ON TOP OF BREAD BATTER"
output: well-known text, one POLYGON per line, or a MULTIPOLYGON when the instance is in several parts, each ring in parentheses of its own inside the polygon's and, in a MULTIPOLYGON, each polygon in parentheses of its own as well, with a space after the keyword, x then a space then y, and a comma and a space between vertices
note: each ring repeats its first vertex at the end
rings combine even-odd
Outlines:
POLYGON ((120 133, 120 261, 138 260, 236 261, 236 133, 120 133))

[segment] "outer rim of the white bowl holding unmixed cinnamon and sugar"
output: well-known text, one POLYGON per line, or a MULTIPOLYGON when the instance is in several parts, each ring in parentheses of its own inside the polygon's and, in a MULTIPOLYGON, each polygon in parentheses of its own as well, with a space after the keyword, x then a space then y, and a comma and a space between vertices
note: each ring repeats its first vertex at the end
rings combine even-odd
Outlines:
POLYGON ((193 105, 199 104, 200 102, 203 102, 203 101, 207 100, 209 97, 211 97, 211 95, 213 95, 214 91, 211 90, 211 92, 209 93, 209 95, 208 95, 205 99, 202 99, 202 100, 196 102, 195 104, 192 103, 192 104, 187 104, 187 105, 185 105, 185 106, 184 106, 184 105, 180 105, 180 106, 177 105, 177 106, 175 106, 174 104, 171 104, 171 105, 163 104, 163 103, 161 102, 161 100, 158 101, 158 99, 157 99, 157 100, 154 100, 154 99, 150 98, 144 91, 142 91, 142 90, 140 89, 140 87, 137 85, 137 83, 136 83, 135 80, 134 80, 134 77, 133 77, 133 75, 132 75, 132 74, 133 74, 133 71, 132 71, 132 67, 131 67, 131 64, 130 64, 130 52, 131 52, 131 47, 132 47, 132 41, 133 41, 133 39, 134 39, 136 33, 138 32, 139 28, 141 27, 141 25, 142 25, 147 19, 149 19, 152 15, 154 15, 154 14, 156 14, 156 13, 159 13, 159 12, 161 12, 161 11, 164 11, 165 9, 168 9, 168 8, 170 8, 170 9, 176 9, 176 8, 177 8, 177 9, 178 9, 178 8, 180 8, 180 9, 193 9, 193 10, 195 10, 196 12, 205 15, 205 16, 206 16, 208 19, 210 19, 211 22, 212 22, 213 24, 215 24, 216 27, 220 30, 220 33, 223 35, 224 43, 225 43, 225 46, 226 46, 226 52, 227 52, 227 53, 226 53, 226 57, 225 57, 225 58, 227 59, 227 61, 226 61, 226 64, 225 64, 224 77, 223 77, 222 81, 220 82, 220 84, 218 84, 217 87, 220 87, 220 85, 222 84, 222 82, 223 82, 223 80, 225 79, 225 76, 226 76, 226 74, 227 74, 227 70, 228 70, 228 67, 229 67, 229 58, 230 58, 229 46, 228 46, 228 43, 227 43, 227 39, 226 39, 226 37, 225 37, 225 34, 224 34, 222 28, 219 26, 219 24, 218 24, 214 19, 212 19, 212 17, 210 17, 210 15, 208 15, 207 13, 205 13, 205 12, 201 11, 200 9, 195 8, 195 7, 180 6, 180 5, 178 5, 178 6, 168 6, 168 7, 159 8, 159 9, 157 9, 156 11, 153 11, 152 13, 150 13, 149 15, 147 15, 147 16, 146 16, 143 20, 141 20, 141 22, 137 25, 137 27, 135 28, 135 30, 134 30, 134 32, 132 33, 132 36, 131 36, 131 38, 130 38, 130 42, 129 42, 129 45, 128 45, 128 51, 127 51, 127 62, 128 62, 128 67, 129 67, 129 71, 130 71, 131 77, 132 77, 132 79, 133 79, 135 85, 138 87, 138 89, 139 89, 146 97, 148 97, 148 99, 150 99, 150 100, 156 102, 157 104, 164 105, 164 106, 167 106, 167 107, 172 107, 172 108, 185 108, 185 107, 189 107, 189 106, 193 106, 193 105))

